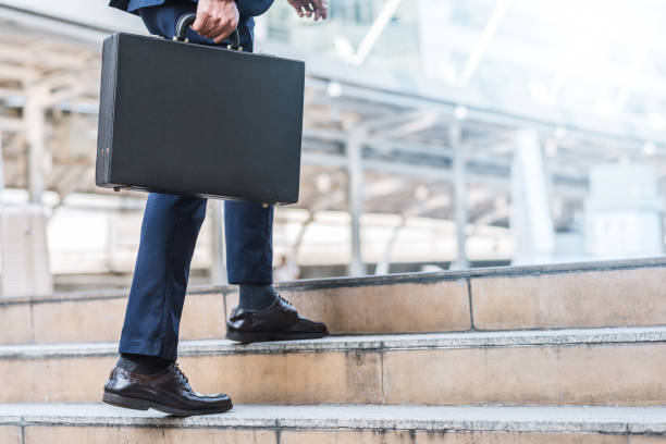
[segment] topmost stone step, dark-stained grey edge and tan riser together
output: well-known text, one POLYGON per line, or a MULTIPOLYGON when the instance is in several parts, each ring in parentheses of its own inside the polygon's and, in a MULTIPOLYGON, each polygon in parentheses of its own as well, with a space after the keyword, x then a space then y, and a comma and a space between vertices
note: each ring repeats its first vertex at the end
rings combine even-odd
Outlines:
MULTIPOLYGON (((666 325, 666 259, 279 284, 334 334, 666 325)), ((181 337, 221 338, 235 286, 186 298, 181 337)), ((118 341, 126 292, 0 298, 0 344, 118 341)))

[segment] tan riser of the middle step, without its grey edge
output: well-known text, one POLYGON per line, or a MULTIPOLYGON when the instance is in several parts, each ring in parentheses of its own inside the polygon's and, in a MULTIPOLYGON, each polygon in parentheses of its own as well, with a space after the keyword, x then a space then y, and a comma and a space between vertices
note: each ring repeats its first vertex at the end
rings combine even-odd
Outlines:
MULTIPOLYGON (((115 357, 5 358, 2 403, 98 402, 115 357)), ((666 405, 666 343, 183 356, 243 404, 666 405)))

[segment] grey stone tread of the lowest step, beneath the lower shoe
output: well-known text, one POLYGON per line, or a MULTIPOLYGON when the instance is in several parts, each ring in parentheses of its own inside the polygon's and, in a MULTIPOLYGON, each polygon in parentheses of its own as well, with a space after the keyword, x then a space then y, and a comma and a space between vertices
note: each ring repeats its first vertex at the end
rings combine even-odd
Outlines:
POLYGON ((237 405, 224 415, 168 418, 102 404, 3 404, 0 424, 663 434, 666 407, 237 405))

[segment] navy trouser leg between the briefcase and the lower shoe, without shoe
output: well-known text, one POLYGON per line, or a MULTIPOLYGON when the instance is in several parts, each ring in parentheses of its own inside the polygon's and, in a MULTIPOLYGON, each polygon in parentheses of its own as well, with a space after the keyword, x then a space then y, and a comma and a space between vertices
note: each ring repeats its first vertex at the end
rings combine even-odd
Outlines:
POLYGON ((205 217, 206 199, 149 195, 121 354, 176 359, 189 264, 205 217))

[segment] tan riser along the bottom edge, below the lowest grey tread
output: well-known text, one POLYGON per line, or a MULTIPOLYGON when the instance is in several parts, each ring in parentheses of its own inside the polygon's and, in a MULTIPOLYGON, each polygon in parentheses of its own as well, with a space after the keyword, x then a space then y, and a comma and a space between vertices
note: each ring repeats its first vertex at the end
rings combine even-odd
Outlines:
POLYGON ((664 444, 664 435, 421 430, 177 429, 132 427, 0 427, 7 444, 664 444))

